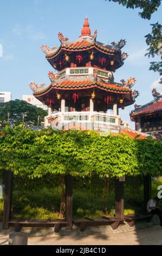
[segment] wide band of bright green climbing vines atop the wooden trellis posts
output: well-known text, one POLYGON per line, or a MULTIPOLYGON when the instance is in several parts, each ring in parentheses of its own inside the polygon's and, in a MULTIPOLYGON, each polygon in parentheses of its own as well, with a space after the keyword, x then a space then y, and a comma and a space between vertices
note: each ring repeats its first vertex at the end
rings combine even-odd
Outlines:
POLYGON ((112 179, 159 175, 162 171, 162 144, 152 138, 22 128, 8 126, 0 133, 0 169, 12 170, 15 175, 30 179, 57 174, 112 179))

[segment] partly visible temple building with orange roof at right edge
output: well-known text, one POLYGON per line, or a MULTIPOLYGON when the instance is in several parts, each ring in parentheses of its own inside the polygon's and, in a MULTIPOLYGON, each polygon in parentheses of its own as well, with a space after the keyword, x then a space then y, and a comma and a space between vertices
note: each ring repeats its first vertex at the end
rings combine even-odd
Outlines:
POLYGON ((152 95, 151 102, 134 105, 130 116, 131 120, 135 121, 135 130, 159 137, 162 135, 162 95, 155 88, 152 90, 152 95))

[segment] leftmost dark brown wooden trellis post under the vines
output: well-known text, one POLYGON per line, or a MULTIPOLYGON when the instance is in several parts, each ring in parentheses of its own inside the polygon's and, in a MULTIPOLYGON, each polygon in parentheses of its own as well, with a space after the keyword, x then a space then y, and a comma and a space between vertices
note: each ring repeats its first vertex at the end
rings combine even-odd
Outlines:
POLYGON ((9 219, 11 217, 11 199, 12 199, 13 173, 5 170, 4 185, 4 208, 3 208, 3 229, 9 229, 9 219))

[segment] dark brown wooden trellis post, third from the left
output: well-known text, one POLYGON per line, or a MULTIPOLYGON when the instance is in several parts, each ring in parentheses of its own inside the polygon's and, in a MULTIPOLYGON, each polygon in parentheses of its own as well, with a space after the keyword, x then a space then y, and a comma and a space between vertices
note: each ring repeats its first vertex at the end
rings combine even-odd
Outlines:
POLYGON ((115 217, 124 218, 124 181, 115 181, 115 217))

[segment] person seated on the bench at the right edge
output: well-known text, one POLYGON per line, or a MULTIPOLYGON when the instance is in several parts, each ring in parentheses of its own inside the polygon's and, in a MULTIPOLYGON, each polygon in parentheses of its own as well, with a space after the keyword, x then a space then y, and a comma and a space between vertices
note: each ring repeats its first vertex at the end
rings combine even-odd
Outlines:
POLYGON ((150 199, 147 203, 147 212, 149 214, 157 214, 160 219, 160 226, 162 226, 162 212, 159 209, 159 207, 156 206, 157 203, 159 203, 158 197, 154 197, 153 199, 150 199))

